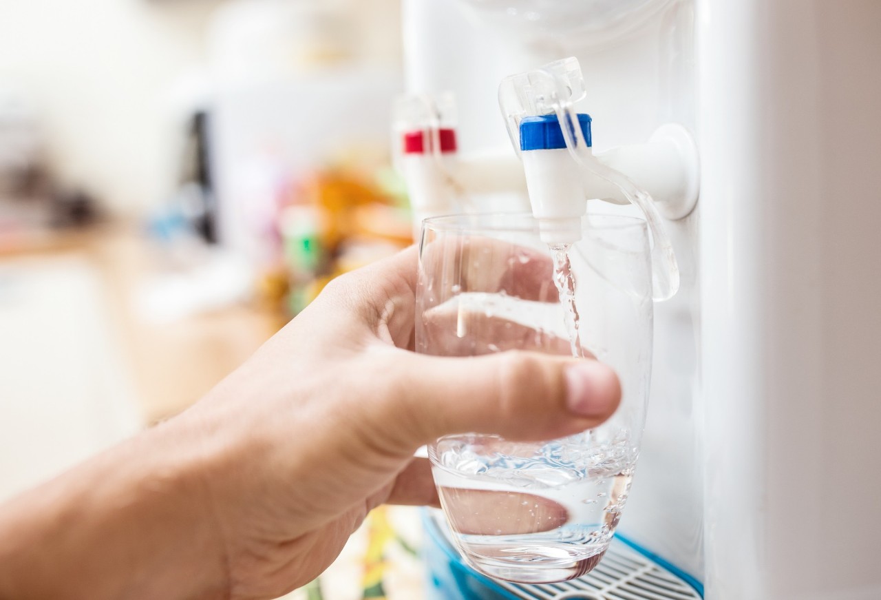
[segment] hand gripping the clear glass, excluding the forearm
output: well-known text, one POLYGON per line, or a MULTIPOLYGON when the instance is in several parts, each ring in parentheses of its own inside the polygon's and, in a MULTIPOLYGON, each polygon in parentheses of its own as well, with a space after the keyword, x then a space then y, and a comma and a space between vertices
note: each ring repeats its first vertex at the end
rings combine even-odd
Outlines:
MULTIPOLYGON (((464 431, 559 438, 616 408, 618 380, 594 361, 407 351, 416 260, 411 249, 332 282, 188 416, 242 449, 206 482, 233 597, 311 580, 374 506, 436 504, 418 446, 464 431)), ((532 279, 546 294, 548 278, 532 279)))

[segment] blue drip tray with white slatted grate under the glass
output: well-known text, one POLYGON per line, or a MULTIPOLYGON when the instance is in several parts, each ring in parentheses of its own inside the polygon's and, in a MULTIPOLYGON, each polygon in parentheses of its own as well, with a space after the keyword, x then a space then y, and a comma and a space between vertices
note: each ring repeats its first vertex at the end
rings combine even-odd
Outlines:
POLYGON ((613 538, 589 574, 560 583, 492 580, 464 564, 451 544, 440 511, 426 511, 426 560, 432 598, 444 600, 700 600, 700 584, 685 581, 655 560, 613 538))

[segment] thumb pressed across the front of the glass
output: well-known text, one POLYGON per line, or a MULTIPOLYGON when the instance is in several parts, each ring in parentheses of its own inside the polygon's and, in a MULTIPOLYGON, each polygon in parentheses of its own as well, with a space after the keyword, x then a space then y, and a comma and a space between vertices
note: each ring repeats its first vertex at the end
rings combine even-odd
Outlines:
POLYGON ((513 440, 562 438, 603 423, 621 399, 609 366, 535 352, 408 353, 396 356, 389 371, 398 385, 381 401, 384 429, 412 447, 469 431, 513 440))

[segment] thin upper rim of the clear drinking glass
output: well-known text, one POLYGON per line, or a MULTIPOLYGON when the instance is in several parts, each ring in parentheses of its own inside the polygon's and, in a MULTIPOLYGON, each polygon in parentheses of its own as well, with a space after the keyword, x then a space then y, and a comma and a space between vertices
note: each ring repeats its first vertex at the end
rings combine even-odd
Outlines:
MULTIPOLYGON (((647 229, 647 221, 643 217, 633 216, 630 214, 611 214, 611 213, 593 213, 589 212, 581 217, 581 230, 600 229, 629 229, 640 228, 647 229), (589 220, 592 217, 601 217, 603 219, 612 219, 616 222, 612 224, 592 224, 589 220)), ((433 217, 427 217, 422 220, 421 229, 432 230, 436 232, 467 232, 467 231, 492 231, 496 233, 534 233, 538 231, 538 220, 532 213, 516 212, 490 212, 490 213, 455 213, 441 214, 433 217), (514 223, 492 224, 488 221, 493 218, 511 219, 514 223), (471 221, 477 220, 477 222, 471 221)))

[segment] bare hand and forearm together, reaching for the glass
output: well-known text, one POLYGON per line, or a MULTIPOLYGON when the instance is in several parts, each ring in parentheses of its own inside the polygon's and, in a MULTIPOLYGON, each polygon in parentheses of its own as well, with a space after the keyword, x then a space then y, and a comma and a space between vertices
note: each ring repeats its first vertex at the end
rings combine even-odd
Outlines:
POLYGON ((418 446, 617 408, 596 361, 411 352, 416 286, 415 249, 338 278, 192 409, 0 506, 0 598, 281 596, 375 506, 437 504, 418 446))

